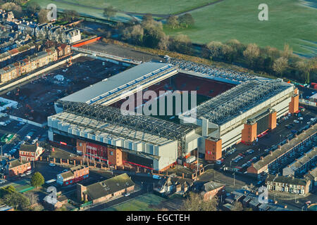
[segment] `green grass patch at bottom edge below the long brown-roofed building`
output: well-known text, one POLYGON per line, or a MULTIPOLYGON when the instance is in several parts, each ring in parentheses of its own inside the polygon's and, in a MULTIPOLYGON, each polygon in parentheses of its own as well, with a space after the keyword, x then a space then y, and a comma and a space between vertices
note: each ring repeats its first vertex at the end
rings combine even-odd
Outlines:
POLYGON ((154 211, 151 205, 159 205, 165 198, 148 193, 137 198, 133 198, 126 203, 121 203, 114 207, 108 207, 104 211, 154 211))

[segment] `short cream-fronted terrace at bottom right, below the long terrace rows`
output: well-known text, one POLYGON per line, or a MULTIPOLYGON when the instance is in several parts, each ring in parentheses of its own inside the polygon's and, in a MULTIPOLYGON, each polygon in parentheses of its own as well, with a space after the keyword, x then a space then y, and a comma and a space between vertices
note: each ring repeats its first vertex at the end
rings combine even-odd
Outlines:
POLYGON ((294 178, 294 176, 268 175, 266 186, 269 191, 280 191, 306 195, 310 191, 311 181, 306 179, 294 178))

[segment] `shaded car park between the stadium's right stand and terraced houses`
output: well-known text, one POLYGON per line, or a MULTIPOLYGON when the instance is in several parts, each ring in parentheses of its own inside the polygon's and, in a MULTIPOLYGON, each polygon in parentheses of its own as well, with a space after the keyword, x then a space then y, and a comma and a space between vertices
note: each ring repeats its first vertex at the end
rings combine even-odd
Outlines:
POLYGON ((223 152, 223 162, 220 167, 231 167, 240 170, 240 172, 246 172, 252 162, 258 161, 261 156, 268 155, 273 146, 285 139, 291 139, 303 127, 309 127, 313 123, 311 118, 316 118, 317 114, 311 110, 305 110, 300 117, 303 119, 298 120, 299 117, 294 116, 281 118, 273 131, 269 131, 253 145, 247 146, 238 143, 231 150, 223 152), (294 123, 294 120, 299 122, 294 123))

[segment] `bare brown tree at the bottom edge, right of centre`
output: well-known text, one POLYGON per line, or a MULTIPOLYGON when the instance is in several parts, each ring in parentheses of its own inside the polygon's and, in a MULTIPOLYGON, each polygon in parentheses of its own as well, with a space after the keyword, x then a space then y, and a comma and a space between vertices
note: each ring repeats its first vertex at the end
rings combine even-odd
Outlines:
POLYGON ((218 199, 212 198, 205 200, 197 193, 189 193, 188 198, 182 204, 182 211, 216 211, 218 207, 218 199))

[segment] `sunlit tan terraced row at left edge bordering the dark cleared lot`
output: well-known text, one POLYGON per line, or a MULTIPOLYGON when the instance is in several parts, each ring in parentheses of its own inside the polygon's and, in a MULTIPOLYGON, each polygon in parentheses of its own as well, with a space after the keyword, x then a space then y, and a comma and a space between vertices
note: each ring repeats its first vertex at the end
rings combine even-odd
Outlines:
POLYGON ((0 82, 8 82, 11 79, 20 77, 29 72, 42 68, 44 65, 48 65, 51 62, 70 55, 70 46, 66 44, 60 44, 58 47, 45 49, 32 56, 27 56, 23 60, 18 60, 15 63, 7 65, 5 68, 0 69, 0 82))

